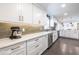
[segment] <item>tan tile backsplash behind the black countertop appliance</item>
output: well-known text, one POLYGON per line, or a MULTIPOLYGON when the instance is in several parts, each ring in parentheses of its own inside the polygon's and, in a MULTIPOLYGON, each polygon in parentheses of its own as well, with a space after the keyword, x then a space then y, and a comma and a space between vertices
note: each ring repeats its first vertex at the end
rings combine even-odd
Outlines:
POLYGON ((11 27, 12 26, 19 26, 21 29, 24 29, 23 35, 29 34, 29 33, 35 33, 42 31, 41 28, 43 26, 40 25, 34 25, 34 24, 26 24, 26 23, 3 23, 0 22, 0 38, 6 38, 11 35, 11 27))

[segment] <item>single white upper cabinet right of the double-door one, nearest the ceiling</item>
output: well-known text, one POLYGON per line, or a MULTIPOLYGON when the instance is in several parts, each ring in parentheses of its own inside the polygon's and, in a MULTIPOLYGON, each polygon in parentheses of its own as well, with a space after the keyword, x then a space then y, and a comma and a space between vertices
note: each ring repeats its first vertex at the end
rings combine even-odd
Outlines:
POLYGON ((45 25, 45 11, 39 6, 32 5, 33 8, 33 24, 45 25))

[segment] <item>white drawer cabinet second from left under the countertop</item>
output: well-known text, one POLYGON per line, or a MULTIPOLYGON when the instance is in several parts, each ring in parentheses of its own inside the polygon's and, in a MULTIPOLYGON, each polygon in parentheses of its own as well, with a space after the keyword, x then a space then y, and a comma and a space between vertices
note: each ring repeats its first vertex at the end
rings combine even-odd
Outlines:
POLYGON ((27 41, 27 55, 39 54, 40 48, 42 48, 42 39, 35 38, 27 41))

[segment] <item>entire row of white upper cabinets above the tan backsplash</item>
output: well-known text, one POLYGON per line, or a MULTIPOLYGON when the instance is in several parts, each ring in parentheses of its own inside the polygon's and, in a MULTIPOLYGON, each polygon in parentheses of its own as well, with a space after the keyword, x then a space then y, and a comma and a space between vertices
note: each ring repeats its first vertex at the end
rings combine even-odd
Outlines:
POLYGON ((46 12, 32 3, 1 3, 0 21, 45 25, 46 12))

